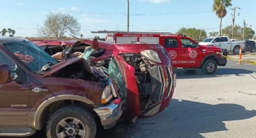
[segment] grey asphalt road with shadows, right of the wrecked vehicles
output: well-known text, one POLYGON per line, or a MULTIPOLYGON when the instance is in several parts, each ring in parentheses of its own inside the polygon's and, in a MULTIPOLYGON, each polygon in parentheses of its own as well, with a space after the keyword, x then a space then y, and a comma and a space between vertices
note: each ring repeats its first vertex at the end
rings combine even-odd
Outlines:
POLYGON ((213 75, 176 70, 177 87, 164 112, 135 124, 120 121, 96 137, 255 137, 256 66, 236 63, 228 61, 213 75))

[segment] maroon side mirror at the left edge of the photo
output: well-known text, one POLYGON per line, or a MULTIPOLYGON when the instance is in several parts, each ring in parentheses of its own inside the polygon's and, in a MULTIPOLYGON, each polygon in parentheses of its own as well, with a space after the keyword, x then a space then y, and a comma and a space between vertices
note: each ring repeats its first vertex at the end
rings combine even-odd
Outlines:
POLYGON ((9 65, 0 65, 0 84, 11 82, 11 71, 9 65))

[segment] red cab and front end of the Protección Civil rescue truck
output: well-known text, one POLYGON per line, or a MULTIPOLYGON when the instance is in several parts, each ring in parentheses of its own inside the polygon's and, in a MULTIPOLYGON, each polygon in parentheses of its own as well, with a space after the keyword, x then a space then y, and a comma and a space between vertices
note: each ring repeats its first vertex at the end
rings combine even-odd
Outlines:
POLYGON ((221 49, 214 46, 199 46, 189 37, 161 36, 160 45, 169 53, 175 68, 202 68, 205 74, 213 74, 217 65, 226 65, 226 58, 222 58, 221 49))

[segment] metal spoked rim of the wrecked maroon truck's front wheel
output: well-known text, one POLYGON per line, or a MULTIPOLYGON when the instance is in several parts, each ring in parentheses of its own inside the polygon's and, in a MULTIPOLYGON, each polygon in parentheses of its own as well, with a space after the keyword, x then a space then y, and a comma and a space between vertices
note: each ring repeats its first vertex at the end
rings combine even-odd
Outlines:
POLYGON ((58 122, 56 128, 56 134, 58 138, 63 137, 85 137, 86 127, 80 119, 77 118, 64 118, 58 122))

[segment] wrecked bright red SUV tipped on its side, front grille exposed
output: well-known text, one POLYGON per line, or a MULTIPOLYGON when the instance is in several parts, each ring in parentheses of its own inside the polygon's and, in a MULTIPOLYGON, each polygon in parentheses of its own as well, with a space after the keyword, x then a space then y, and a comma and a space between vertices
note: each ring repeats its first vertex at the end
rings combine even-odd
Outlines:
POLYGON ((113 44, 79 40, 71 46, 38 45, 58 60, 86 59, 92 68, 111 78, 123 100, 123 116, 136 119, 163 111, 176 86, 171 59, 159 44, 113 44), (66 47, 63 49, 63 47, 66 47))

